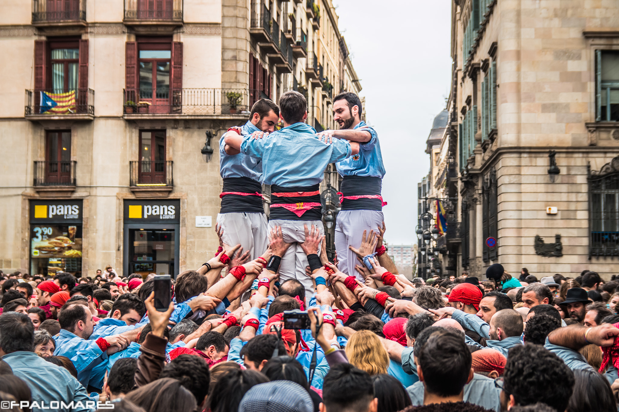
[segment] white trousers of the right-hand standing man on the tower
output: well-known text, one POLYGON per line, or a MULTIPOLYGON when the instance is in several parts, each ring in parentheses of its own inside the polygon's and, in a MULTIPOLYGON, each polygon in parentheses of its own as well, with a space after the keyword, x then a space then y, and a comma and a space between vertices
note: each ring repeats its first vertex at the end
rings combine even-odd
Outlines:
POLYGON ((335 250, 337 250, 338 268, 348 276, 356 276, 363 282, 363 276, 355 269, 355 264, 362 264, 357 260, 357 254, 348 249, 348 246, 358 249, 361 246, 363 230, 378 232, 383 227, 383 212, 376 210, 343 210, 337 214, 335 222, 335 250))

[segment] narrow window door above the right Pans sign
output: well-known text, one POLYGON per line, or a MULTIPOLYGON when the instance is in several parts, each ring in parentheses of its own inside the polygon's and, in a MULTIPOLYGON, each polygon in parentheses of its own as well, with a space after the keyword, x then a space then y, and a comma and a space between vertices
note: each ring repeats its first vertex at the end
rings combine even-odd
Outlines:
POLYGON ((140 131, 139 183, 166 183, 165 130, 140 131))

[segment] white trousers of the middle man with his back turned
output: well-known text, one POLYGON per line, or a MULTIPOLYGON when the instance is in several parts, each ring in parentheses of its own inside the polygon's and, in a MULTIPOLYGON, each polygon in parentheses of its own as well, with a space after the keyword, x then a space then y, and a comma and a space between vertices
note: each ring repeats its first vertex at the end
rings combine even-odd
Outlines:
MULTIPOLYGON (((284 242, 305 242, 305 228, 303 225, 307 225, 308 230, 311 229, 311 225, 318 227, 318 230, 324 235, 324 226, 322 221, 287 221, 282 219, 274 219, 269 221, 269 231, 272 227, 281 226, 282 235, 284 236, 284 242)), ((320 251, 318 252, 320 253, 320 251)), ((282 263, 279 266, 279 282, 284 283, 288 279, 297 279, 305 287, 305 296, 309 296, 314 293, 314 286, 311 278, 305 274, 305 267, 308 266, 308 258, 301 249, 298 243, 290 245, 284 257, 282 257, 282 263)))

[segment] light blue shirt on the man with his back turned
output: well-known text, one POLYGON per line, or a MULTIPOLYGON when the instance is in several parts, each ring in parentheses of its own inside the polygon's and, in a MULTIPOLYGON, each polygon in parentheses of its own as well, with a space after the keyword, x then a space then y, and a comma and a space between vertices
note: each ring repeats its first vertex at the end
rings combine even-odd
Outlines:
POLYGON ((282 187, 308 187, 322 182, 329 163, 347 159, 352 148, 347 140, 334 139, 327 145, 318 140, 316 130, 295 123, 266 138, 246 136, 241 153, 262 159, 262 182, 282 187))

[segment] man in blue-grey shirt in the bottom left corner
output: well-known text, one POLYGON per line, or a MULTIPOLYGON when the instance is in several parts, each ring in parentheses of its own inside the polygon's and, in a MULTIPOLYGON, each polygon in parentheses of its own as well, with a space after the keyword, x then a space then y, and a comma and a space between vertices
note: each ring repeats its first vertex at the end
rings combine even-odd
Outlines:
POLYGON ((88 397, 84 386, 67 369, 37 356, 32 351, 33 341, 34 327, 28 316, 19 313, 0 316, 0 358, 30 388, 32 412, 95 410, 95 401, 88 397), (73 408, 63 406, 71 402, 74 402, 73 408))

